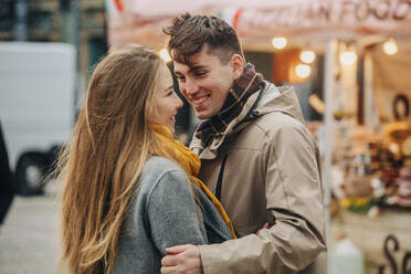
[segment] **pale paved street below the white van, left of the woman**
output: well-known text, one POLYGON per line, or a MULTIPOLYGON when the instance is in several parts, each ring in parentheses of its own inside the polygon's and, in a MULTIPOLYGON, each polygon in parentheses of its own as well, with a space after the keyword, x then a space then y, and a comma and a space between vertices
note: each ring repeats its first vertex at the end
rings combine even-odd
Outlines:
POLYGON ((0 231, 1 274, 54 274, 59 260, 57 187, 44 196, 15 197, 0 231))

